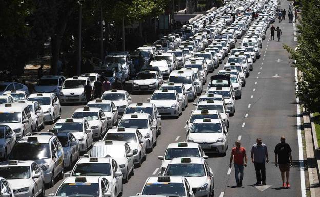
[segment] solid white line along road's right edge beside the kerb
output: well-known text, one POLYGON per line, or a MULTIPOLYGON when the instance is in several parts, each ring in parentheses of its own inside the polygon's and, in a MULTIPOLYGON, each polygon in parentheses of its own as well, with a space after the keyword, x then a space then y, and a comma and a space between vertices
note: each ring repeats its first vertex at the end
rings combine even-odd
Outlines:
MULTIPOLYGON (((295 75, 295 86, 296 89, 298 87, 297 83, 298 83, 298 74, 297 74, 297 68, 294 69, 294 75, 295 75)), ((297 102, 297 114, 301 114, 300 111, 300 105, 299 103, 299 98, 296 98, 296 102, 297 102)), ((305 182, 305 171, 304 171, 304 158, 303 158, 303 145, 302 145, 302 138, 301 138, 301 129, 300 129, 300 117, 297 116, 297 135, 298 135, 298 145, 299 145, 299 164, 300 164, 300 185, 301 185, 301 196, 305 197, 307 196, 306 194, 306 182, 305 182)))

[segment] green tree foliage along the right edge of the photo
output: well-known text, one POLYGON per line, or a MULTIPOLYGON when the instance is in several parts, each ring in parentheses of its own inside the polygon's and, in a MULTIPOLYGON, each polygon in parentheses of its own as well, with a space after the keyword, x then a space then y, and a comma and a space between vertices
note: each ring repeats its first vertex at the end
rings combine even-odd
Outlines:
POLYGON ((304 1, 301 20, 297 28, 298 48, 288 46, 285 49, 296 60, 295 67, 302 71, 302 80, 298 82, 296 96, 311 112, 320 111, 320 8, 319 1, 304 1))

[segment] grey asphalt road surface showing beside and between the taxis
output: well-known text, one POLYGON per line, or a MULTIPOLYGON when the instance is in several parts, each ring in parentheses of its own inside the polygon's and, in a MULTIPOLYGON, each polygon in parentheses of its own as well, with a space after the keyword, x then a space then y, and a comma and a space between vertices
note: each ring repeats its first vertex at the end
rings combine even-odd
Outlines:
MULTIPOLYGON (((288 8, 289 2, 282 1, 282 8, 288 8)), ((282 29, 281 42, 271 41, 270 28, 267 30, 266 39, 263 41, 261 58, 257 60, 246 79, 246 86, 242 89, 242 98, 236 100, 236 113, 230 118, 229 149, 226 156, 209 155, 208 164, 212 168, 215 177, 215 196, 301 196, 301 183, 299 172, 299 155, 296 126, 296 104, 294 69, 288 64, 289 54, 283 49, 283 43, 294 46, 293 26, 288 20, 278 23, 275 27, 282 29), (278 77, 273 77, 273 76, 278 77), (274 165, 274 147, 279 143, 281 136, 286 137, 286 142, 293 150, 292 156, 294 166, 290 169, 290 189, 281 188, 281 177, 279 169, 274 165), (268 147, 269 160, 266 164, 267 186, 254 187, 255 171, 250 162, 250 148, 256 138, 261 137, 263 143, 268 147), (235 188, 234 169, 229 170, 229 158, 234 142, 241 139, 242 146, 248 152, 248 166, 242 188, 235 188), (228 171, 230 173, 228 173, 228 171)), ((271 27, 271 25, 270 25, 271 27)), ((276 39, 276 38, 275 38, 276 39)), ((277 39, 276 39, 277 40, 277 39)), ((237 45, 241 40, 237 41, 237 45)), ((226 61, 227 59, 225 59, 226 61)), ((223 65, 219 67, 222 69, 223 65)), ((210 76, 216 74, 216 69, 210 76)), ((209 82, 209 80, 207 80, 209 82)), ((207 83, 208 84, 208 83, 207 83)), ((204 87, 207 87, 207 84, 204 87)), ((126 87, 130 88, 131 81, 126 87)), ((147 102, 151 95, 131 95, 133 102, 147 102)), ((71 117, 74 110, 81 106, 63 106, 62 118, 71 117)), ((162 119, 161 135, 157 140, 157 146, 153 152, 147 155, 147 160, 141 167, 135 169, 135 174, 127 184, 124 184, 123 196, 132 196, 141 192, 145 180, 154 174, 158 174, 161 161, 157 156, 163 155, 169 143, 184 141, 186 139, 185 122, 189 119, 190 111, 194 109, 189 103, 186 110, 178 119, 162 119)), ((51 129, 53 125, 47 125, 45 130, 51 129)), ((55 193, 62 180, 52 188, 47 188, 46 195, 55 193)))

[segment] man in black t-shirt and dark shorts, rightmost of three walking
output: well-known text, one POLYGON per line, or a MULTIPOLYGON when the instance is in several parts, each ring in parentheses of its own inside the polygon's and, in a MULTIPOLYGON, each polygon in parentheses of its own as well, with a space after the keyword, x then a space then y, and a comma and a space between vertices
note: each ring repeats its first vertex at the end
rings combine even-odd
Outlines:
POLYGON ((274 153, 275 153, 275 166, 278 167, 281 172, 281 179, 282 179, 282 187, 283 188, 290 188, 289 184, 289 171, 290 171, 290 164, 292 166, 292 156, 291 156, 291 148, 290 145, 286 143, 286 138, 282 136, 280 138, 281 143, 278 143, 275 146, 274 153), (290 160, 289 160, 290 159, 290 160), (285 183, 285 173, 287 182, 285 183))

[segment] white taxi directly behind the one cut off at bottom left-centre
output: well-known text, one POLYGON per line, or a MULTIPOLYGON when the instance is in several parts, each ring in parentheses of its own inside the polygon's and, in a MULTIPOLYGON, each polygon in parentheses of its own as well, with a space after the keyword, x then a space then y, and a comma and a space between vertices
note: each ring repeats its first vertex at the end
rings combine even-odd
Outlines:
POLYGON ((122 173, 119 164, 112 157, 80 158, 65 177, 104 176, 113 188, 115 196, 122 195, 122 173))

